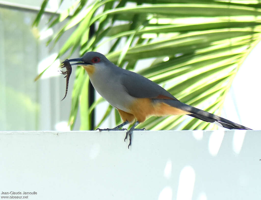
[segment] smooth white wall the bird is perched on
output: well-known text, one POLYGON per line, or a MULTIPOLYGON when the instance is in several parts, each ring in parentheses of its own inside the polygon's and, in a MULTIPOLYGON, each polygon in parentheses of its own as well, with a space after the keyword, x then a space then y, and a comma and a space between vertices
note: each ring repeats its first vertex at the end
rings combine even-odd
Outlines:
POLYGON ((0 132, 0 193, 35 191, 32 200, 260 199, 260 136, 136 131, 128 149, 125 131, 0 132))

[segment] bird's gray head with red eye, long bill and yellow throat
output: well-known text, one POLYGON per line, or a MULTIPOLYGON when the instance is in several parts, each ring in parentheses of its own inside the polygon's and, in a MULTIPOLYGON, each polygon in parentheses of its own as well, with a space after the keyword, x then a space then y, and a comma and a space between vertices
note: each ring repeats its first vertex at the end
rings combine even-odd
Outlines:
POLYGON ((92 75, 97 68, 106 66, 107 62, 110 62, 103 54, 90 51, 84 54, 81 58, 73 58, 64 60, 62 63, 77 62, 71 65, 82 66, 89 75, 92 75))

